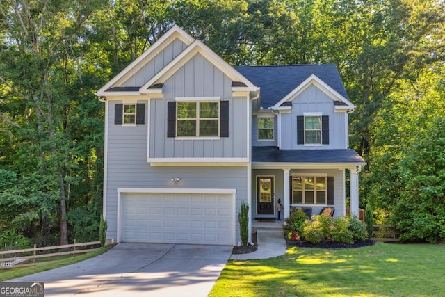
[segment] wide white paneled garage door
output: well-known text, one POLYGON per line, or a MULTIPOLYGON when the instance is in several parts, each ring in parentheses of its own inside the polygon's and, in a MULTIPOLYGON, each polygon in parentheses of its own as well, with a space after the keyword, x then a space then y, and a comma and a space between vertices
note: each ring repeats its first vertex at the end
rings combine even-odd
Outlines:
POLYGON ((121 239, 233 245, 233 200, 213 193, 122 193, 121 239))

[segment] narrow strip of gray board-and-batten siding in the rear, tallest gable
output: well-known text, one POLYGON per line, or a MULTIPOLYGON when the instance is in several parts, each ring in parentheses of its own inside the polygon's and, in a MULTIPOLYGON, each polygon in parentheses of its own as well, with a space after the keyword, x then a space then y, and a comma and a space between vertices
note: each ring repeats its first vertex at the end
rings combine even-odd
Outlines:
POLYGON ((154 77, 154 74, 158 73, 165 65, 170 63, 177 55, 184 51, 186 44, 176 38, 170 45, 165 47, 159 54, 157 54, 152 60, 145 64, 136 74, 133 74, 127 81, 122 83, 122 87, 136 87, 143 86, 149 79, 154 77))

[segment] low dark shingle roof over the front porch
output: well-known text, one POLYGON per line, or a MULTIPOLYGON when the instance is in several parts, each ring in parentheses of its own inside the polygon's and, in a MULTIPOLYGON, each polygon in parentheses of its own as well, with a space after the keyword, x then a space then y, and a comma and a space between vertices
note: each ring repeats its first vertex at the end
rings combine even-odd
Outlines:
POLYGON ((252 147, 252 162, 266 163, 365 163, 355 150, 280 150, 252 147))

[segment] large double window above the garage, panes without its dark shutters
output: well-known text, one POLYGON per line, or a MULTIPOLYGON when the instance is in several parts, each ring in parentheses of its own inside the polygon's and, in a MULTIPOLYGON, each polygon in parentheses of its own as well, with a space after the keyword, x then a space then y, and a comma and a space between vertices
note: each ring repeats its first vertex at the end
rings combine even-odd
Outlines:
POLYGON ((177 102, 177 137, 219 136, 220 102, 177 102))

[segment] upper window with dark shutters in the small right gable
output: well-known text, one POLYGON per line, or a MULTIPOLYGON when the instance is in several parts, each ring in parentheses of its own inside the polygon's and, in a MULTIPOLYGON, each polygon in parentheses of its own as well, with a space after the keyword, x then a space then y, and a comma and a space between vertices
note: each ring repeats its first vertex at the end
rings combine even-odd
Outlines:
POLYGON ((328 145, 329 116, 321 113, 305 113, 297 116, 298 145, 328 145))

